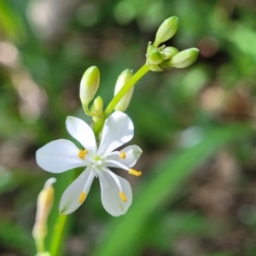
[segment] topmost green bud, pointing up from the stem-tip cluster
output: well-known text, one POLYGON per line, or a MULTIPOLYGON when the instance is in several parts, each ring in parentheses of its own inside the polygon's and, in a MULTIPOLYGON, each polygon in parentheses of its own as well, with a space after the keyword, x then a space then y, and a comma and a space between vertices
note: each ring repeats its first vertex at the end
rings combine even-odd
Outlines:
POLYGON ((177 32, 178 19, 173 16, 166 19, 159 27, 155 35, 154 46, 166 42, 177 32))

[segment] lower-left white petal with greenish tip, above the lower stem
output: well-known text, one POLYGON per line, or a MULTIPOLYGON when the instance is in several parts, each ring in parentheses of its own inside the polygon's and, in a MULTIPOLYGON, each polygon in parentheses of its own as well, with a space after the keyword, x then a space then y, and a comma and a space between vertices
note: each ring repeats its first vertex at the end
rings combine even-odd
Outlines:
POLYGON ((91 168, 87 167, 79 177, 77 177, 73 183, 71 183, 61 196, 61 202, 59 211, 61 214, 69 214, 74 212, 81 206, 79 198, 81 193, 84 191, 84 185, 86 183, 86 196, 90 190, 91 183, 94 179, 94 174, 91 172, 91 168))

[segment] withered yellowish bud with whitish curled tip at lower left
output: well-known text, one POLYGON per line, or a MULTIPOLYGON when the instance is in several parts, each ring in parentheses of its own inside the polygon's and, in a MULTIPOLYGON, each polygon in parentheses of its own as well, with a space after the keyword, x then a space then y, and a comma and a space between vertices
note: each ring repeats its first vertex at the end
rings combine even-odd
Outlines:
POLYGON ((42 244, 44 237, 47 235, 47 219, 54 201, 52 183, 55 183, 55 181, 55 177, 49 178, 44 184, 44 189, 38 195, 36 222, 32 230, 32 236, 37 244, 42 244))

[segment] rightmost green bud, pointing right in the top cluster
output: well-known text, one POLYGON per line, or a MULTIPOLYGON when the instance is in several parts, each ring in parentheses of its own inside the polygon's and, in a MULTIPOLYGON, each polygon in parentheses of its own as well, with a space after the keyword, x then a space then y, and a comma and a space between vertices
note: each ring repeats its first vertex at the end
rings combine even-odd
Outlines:
POLYGON ((168 61, 168 66, 176 68, 189 67, 196 61, 198 54, 199 49, 197 48, 185 49, 177 55, 174 55, 172 59, 168 61))

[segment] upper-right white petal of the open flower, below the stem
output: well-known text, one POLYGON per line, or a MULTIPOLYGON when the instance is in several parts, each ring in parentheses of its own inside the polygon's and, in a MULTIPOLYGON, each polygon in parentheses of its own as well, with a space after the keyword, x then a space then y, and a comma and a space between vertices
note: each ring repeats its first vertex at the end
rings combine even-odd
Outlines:
POLYGON ((112 152, 113 149, 129 142, 133 137, 134 127, 127 114, 116 111, 105 121, 99 154, 112 152))

